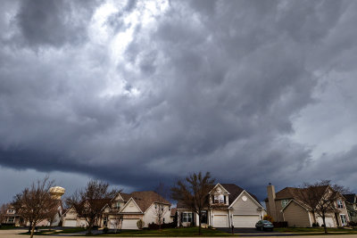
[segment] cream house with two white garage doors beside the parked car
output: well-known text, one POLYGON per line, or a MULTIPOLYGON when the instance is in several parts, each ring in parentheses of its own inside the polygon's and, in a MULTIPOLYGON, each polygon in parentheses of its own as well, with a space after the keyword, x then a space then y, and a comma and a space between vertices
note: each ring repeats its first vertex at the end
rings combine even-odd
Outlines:
MULTIPOLYGON (((234 184, 217 184, 207 194, 207 208, 203 209, 202 226, 254 227, 265 215, 258 199, 234 184)), ((198 214, 178 201, 178 226, 199 226, 198 214)))

